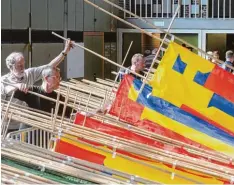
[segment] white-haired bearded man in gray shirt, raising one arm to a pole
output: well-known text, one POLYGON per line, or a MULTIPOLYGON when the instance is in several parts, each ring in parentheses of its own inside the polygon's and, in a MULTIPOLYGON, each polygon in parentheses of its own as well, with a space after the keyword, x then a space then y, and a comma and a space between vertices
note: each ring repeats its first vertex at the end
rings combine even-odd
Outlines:
POLYGON ((25 70, 25 60, 22 53, 13 52, 6 58, 6 65, 10 72, 1 77, 1 97, 9 99, 11 93, 17 88, 27 91, 35 82, 42 79, 42 71, 48 66, 56 67, 64 60, 67 53, 73 47, 71 40, 66 42, 64 50, 54 58, 49 64, 25 70), (8 85, 8 84, 12 84, 8 85))

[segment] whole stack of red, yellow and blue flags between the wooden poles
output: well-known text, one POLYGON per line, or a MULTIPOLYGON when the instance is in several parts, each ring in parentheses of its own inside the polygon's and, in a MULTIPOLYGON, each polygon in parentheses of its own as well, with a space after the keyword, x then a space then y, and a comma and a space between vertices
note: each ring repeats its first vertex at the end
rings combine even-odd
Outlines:
MULTIPOLYGON (((172 42, 153 79, 139 93, 141 86, 140 80, 126 75, 118 88, 116 99, 109 113, 131 125, 181 143, 217 151, 230 158, 234 157, 234 76, 232 74, 172 42)), ((128 128, 119 128, 77 114, 75 123, 83 125, 84 121, 85 127, 114 137, 199 158, 183 148, 169 147, 134 133, 128 128)), ((101 149, 113 150, 112 147, 100 144, 95 139, 90 141, 74 136, 61 137, 55 147, 56 152, 102 164, 155 182, 166 184, 228 183, 192 170, 173 168, 162 162, 116 150, 120 154, 154 166, 154 168, 147 167, 121 156, 113 157, 111 152, 101 149), (85 145, 84 142, 90 145, 85 145), (177 175, 172 178, 171 173, 177 175)), ((233 165, 230 164, 230 166, 233 168, 233 165)))

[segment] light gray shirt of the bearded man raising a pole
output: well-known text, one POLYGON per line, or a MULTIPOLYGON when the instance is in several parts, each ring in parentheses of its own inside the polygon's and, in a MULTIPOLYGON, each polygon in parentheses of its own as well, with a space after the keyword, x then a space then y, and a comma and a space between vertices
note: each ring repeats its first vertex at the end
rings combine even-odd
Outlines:
POLYGON ((48 65, 43 65, 39 67, 28 68, 25 70, 24 76, 19 80, 16 79, 11 73, 8 73, 1 77, 1 95, 10 96, 11 93, 16 90, 16 87, 4 84, 2 82, 7 82, 12 85, 25 84, 26 88, 32 86, 35 82, 42 79, 42 71, 48 67, 48 65))

